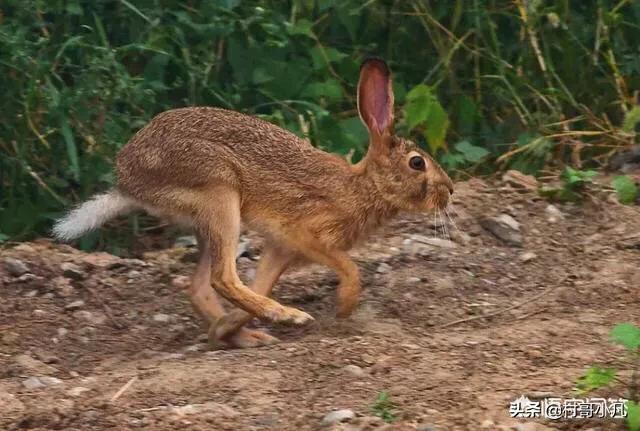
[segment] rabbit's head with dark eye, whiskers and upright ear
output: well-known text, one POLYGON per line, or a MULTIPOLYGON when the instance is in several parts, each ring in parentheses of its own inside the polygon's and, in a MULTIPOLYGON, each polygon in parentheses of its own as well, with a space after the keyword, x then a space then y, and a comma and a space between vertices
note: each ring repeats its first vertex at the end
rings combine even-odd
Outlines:
POLYGON ((358 82, 358 112, 369 130, 369 149, 358 165, 383 199, 405 211, 445 208, 453 183, 414 142, 393 133, 391 73, 383 60, 365 60, 358 82))

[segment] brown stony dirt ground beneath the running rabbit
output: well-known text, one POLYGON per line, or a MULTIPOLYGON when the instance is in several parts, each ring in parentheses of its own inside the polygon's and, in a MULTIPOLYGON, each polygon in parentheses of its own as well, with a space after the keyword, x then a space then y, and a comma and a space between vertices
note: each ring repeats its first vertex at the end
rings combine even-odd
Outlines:
MULTIPOLYGON (((502 181, 459 183, 452 242, 431 216, 405 217, 355 250, 364 293, 345 322, 332 272, 285 274, 275 296, 317 320, 256 323, 282 342, 250 350, 207 350, 184 292, 192 249, 5 247, 0 429, 621 430, 509 417, 520 395, 575 397, 587 367, 618 365, 611 327, 640 323, 639 208, 606 196, 549 205, 502 181), (483 227, 500 214, 519 223, 521 247, 483 227), (372 410, 383 392, 391 424, 372 410), (323 424, 339 409, 355 418, 323 424)), ((260 249, 248 238, 245 279, 260 249)))

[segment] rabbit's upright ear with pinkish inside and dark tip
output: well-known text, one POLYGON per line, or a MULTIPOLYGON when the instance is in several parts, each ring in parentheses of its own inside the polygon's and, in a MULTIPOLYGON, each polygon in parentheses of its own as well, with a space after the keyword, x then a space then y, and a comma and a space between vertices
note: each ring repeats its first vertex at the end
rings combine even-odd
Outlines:
POLYGON ((360 66, 358 113, 372 137, 392 134, 391 72, 382 59, 369 58, 360 66))

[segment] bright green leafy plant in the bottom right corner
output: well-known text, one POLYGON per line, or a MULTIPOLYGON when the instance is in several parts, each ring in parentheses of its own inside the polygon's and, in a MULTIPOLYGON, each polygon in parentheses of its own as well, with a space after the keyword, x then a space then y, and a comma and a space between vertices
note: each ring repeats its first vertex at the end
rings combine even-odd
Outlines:
POLYGON ((575 391, 583 396, 597 389, 619 384, 627 388, 627 427, 630 431, 640 431, 640 328, 631 323, 621 323, 611 330, 611 340, 624 346, 626 357, 622 363, 631 370, 631 377, 624 380, 615 368, 590 367, 576 382, 575 391))

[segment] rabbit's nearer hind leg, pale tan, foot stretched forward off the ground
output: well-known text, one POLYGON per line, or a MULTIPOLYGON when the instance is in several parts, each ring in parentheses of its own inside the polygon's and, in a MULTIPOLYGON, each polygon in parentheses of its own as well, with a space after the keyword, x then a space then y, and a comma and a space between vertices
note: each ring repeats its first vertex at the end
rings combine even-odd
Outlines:
POLYGON ((228 186, 217 186, 209 193, 215 199, 201 202, 205 207, 200 208, 195 221, 197 229, 209 242, 215 290, 232 304, 262 320, 296 325, 312 321, 309 314, 259 295, 242 283, 235 260, 240 237, 240 195, 228 186))

